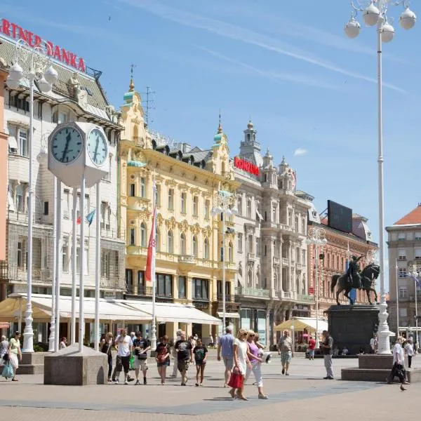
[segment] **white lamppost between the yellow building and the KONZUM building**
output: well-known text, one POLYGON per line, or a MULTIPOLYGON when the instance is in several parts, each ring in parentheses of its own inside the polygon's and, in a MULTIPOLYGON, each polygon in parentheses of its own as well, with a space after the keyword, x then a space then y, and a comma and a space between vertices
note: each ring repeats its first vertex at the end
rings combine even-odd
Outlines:
POLYGON ((225 218, 231 215, 236 215, 238 210, 235 206, 236 196, 234 193, 227 192, 226 190, 218 190, 215 198, 215 206, 212 208, 212 215, 222 215, 222 247, 221 250, 222 260, 222 329, 225 329, 225 314, 226 314, 226 297, 225 297, 225 218))

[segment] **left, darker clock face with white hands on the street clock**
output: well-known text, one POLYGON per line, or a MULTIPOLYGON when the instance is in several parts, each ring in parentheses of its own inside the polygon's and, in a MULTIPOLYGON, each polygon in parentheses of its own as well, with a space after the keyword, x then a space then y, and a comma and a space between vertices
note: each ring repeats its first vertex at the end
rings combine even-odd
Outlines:
POLYGON ((51 154, 61 163, 72 163, 83 149, 82 136, 74 127, 65 127, 51 140, 51 154))

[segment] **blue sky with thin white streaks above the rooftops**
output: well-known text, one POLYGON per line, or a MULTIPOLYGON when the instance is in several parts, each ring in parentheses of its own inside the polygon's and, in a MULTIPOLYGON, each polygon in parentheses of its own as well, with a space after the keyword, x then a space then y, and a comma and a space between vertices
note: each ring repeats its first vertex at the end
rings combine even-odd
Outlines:
MULTIPOLYGON (((376 37, 363 25, 345 37, 349 1, 3 0, 0 13, 102 70, 116 107, 135 64, 138 91, 156 91, 149 125, 176 140, 209 147, 221 109, 234 156, 251 116, 263 152, 286 156, 320 211, 343 203, 377 239, 376 37)), ((420 24, 404 31, 400 13, 383 61, 386 225, 421 201, 420 24)))

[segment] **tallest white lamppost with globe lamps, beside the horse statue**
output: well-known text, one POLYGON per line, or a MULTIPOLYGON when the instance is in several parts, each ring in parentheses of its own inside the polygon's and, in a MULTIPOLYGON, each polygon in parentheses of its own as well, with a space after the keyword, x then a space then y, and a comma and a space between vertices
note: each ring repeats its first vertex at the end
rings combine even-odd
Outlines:
POLYGON ((388 355, 390 351, 389 326, 387 324, 387 303, 385 291, 385 243, 384 243, 384 187, 383 187, 383 128, 382 128, 382 43, 392 41, 394 37, 394 27, 392 20, 387 18, 387 11, 390 6, 403 6, 403 12, 399 18, 399 23, 403 29, 411 29, 417 20, 415 13, 410 11, 408 0, 350 0, 353 8, 351 19, 345 25, 345 34, 349 38, 359 35, 361 25, 356 20, 358 12, 363 14, 364 23, 367 26, 377 27, 377 142, 378 142, 378 201, 379 201, 379 251, 380 251, 380 313, 379 313, 379 352, 378 354, 388 355))

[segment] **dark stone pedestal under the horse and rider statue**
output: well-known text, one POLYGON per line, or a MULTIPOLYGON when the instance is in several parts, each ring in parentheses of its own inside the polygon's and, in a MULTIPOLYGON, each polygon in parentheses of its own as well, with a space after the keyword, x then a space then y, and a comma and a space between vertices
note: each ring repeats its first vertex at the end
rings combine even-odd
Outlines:
POLYGON ((342 352, 346 346, 354 355, 359 354, 361 347, 370 352, 370 339, 379 323, 376 305, 333 305, 326 313, 334 347, 342 352))

